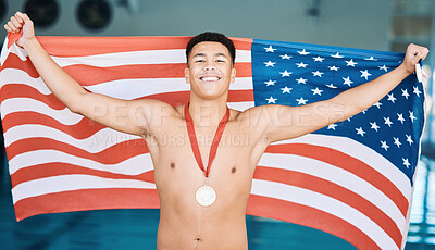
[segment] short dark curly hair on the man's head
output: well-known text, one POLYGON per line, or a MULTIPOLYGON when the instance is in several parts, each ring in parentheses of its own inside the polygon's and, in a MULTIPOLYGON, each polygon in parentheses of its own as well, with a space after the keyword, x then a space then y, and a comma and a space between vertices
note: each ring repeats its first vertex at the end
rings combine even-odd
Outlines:
POLYGON ((215 41, 215 42, 219 42, 219 43, 225 46, 226 49, 228 49, 229 54, 232 57, 232 63, 233 63, 232 65, 234 65, 234 62, 236 60, 236 49, 234 48, 233 41, 221 33, 211 33, 211 32, 201 33, 201 34, 192 37, 189 40, 189 42, 187 43, 187 47, 186 47, 187 65, 189 62, 188 60, 189 60, 190 52, 194 49, 194 47, 196 45, 198 45, 199 42, 203 42, 203 41, 215 41))

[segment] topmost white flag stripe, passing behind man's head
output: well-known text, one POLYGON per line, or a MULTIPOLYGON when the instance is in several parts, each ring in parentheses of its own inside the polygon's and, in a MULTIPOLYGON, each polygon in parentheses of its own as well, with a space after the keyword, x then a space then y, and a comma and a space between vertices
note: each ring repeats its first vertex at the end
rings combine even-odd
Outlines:
MULTIPOLYGON (((86 57, 51 57, 61 67, 71 65, 89 65, 98 67, 111 67, 122 65, 139 64, 173 64, 186 63, 185 49, 176 50, 147 50, 105 53, 86 57)), ((236 63, 251 62, 251 52, 249 50, 236 51, 236 63)))

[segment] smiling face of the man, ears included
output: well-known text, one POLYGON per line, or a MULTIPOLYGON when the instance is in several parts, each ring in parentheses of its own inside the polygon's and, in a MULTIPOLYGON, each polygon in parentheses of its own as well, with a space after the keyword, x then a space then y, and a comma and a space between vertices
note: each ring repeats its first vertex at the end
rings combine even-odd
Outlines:
POLYGON ((236 77, 228 49, 213 41, 196 45, 188 58, 185 77, 191 91, 203 99, 226 93, 236 77))

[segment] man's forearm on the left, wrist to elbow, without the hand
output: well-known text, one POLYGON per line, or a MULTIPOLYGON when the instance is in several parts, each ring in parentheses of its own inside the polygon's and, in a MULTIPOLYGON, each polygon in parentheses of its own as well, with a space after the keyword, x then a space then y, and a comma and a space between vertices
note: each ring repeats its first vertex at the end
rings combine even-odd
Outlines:
POLYGON ((87 91, 50 58, 36 38, 28 40, 23 48, 50 91, 76 112, 82 95, 87 91))

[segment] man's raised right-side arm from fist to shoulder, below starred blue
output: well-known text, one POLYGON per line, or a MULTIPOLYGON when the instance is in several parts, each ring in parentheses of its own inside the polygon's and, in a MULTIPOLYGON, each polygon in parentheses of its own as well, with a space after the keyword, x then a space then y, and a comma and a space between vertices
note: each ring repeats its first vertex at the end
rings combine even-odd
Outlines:
POLYGON ((248 116, 259 117, 259 129, 263 133, 263 141, 268 143, 314 132, 372 107, 413 73, 415 64, 420 59, 425 59, 428 50, 424 47, 409 45, 401 65, 374 80, 344 91, 330 100, 308 105, 253 108, 248 112, 254 114, 248 116))

